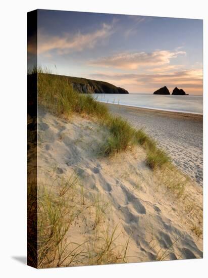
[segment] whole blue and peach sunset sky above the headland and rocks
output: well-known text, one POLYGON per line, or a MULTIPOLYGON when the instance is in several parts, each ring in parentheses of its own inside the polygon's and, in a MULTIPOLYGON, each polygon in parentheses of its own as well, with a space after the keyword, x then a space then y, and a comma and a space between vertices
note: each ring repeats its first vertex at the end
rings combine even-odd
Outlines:
POLYGON ((202 95, 198 19, 38 10, 38 65, 130 93, 175 86, 202 95))

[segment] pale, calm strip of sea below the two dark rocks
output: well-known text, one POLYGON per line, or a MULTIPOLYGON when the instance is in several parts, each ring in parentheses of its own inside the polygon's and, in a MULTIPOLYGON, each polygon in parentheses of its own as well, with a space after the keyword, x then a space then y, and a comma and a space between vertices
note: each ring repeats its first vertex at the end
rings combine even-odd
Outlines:
POLYGON ((94 94, 99 102, 165 111, 203 114, 203 97, 196 95, 94 94))

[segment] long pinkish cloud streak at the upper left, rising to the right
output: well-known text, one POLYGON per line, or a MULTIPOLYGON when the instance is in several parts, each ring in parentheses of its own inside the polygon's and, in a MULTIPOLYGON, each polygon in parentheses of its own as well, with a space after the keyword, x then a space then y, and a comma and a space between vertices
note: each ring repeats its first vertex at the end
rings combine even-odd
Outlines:
POLYGON ((56 50, 58 54, 67 54, 72 51, 92 49, 99 42, 105 41, 113 33, 113 25, 103 23, 100 29, 90 33, 80 31, 72 35, 65 33, 61 36, 50 36, 38 31, 38 54, 46 54, 56 50))

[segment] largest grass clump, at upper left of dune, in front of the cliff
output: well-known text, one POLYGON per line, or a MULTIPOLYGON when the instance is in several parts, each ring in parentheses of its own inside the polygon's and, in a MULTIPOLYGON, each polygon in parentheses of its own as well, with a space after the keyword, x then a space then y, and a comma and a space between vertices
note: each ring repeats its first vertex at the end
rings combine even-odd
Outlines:
POLYGON ((38 102, 56 115, 69 117, 73 112, 105 118, 108 109, 92 96, 79 94, 68 82, 67 77, 38 73, 38 102))

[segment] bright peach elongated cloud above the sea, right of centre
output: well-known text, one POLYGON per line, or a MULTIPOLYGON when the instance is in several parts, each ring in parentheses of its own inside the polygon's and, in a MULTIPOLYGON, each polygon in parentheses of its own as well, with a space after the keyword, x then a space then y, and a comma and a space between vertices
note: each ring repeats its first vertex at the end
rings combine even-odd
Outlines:
POLYGON ((155 66, 165 65, 170 63, 170 59, 176 58, 179 55, 185 55, 184 51, 153 51, 120 53, 114 56, 102 57, 97 60, 90 61, 91 65, 101 67, 113 67, 119 69, 137 69, 139 66, 155 66))

